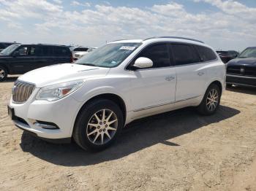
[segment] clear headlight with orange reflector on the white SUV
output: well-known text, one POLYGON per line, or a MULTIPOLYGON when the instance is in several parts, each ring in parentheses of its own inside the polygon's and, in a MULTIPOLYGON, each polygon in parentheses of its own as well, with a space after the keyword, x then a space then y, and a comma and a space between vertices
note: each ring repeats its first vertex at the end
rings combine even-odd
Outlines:
POLYGON ((42 87, 37 93, 36 99, 47 100, 47 101, 56 101, 60 98, 64 98, 70 93, 78 90, 84 83, 84 80, 76 80, 72 82, 64 82, 57 85, 49 85, 42 87))

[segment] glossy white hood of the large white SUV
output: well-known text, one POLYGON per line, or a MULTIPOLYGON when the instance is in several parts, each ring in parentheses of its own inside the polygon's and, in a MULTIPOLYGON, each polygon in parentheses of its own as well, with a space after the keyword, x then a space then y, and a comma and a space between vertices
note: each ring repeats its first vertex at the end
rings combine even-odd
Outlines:
POLYGON ((108 74, 109 70, 108 68, 95 66, 62 63, 29 71, 20 76, 18 80, 33 83, 36 87, 45 87, 77 79, 104 77, 108 74))

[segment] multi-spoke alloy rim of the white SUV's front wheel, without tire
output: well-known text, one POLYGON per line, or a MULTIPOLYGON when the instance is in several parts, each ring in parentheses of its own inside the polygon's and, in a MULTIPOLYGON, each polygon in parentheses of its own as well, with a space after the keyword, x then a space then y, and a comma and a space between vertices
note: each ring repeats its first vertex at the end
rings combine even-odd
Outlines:
POLYGON ((94 113, 86 127, 86 136, 92 144, 108 143, 116 134, 118 119, 115 112, 102 109, 94 113))

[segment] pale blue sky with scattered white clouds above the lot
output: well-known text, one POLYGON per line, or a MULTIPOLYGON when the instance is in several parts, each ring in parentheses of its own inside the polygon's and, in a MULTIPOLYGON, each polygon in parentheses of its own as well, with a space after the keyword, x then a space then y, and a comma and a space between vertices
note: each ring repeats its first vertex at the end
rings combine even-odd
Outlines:
POLYGON ((100 47, 182 36, 216 50, 256 46, 255 0, 0 0, 0 42, 100 47))

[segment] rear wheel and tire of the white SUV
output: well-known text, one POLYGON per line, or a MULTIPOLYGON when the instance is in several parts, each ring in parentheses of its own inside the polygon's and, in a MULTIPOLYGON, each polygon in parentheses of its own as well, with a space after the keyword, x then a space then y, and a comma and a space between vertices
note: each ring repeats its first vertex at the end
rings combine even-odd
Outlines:
POLYGON ((220 98, 221 91, 219 89, 219 86, 211 84, 206 90, 203 101, 200 103, 199 106, 197 106, 197 111, 203 115, 214 114, 219 108, 220 98))

